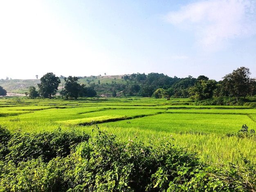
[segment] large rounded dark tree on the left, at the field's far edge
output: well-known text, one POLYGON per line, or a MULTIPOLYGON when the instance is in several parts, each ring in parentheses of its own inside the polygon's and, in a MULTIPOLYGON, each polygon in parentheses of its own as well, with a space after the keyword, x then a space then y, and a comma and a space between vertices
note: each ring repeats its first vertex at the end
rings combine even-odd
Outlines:
POLYGON ((52 95, 56 94, 58 90, 58 85, 61 80, 56 77, 53 73, 47 73, 42 78, 40 78, 40 83, 38 83, 39 93, 44 98, 52 98, 52 95))

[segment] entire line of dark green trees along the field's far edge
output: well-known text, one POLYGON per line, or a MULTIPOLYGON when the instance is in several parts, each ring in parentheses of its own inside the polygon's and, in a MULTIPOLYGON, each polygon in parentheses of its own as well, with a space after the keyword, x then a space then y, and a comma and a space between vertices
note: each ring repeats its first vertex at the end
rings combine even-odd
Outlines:
MULTIPOLYGON (((81 77, 61 77, 65 80, 65 86, 61 95, 66 99, 78 97, 92 97, 99 93, 110 93, 111 96, 143 96, 155 98, 191 98, 193 100, 205 100, 213 97, 239 97, 254 96, 256 94, 256 80, 250 78, 251 72, 247 67, 240 67, 225 75, 222 80, 216 81, 201 75, 198 78, 188 76, 186 78, 169 77, 164 74, 150 73, 131 74, 122 76, 122 82, 117 83, 116 78, 112 83, 91 83, 89 87, 78 83, 81 77)), ((87 79, 88 80, 88 79, 87 79)), ((30 98, 38 96, 52 98, 56 95, 60 78, 53 73, 47 73, 40 78, 38 91, 35 87, 29 87, 26 93, 30 98)), ((89 84, 88 80, 88 84, 89 84)), ((6 90, 0 86, 0 95, 5 96, 6 90)), ((109 94, 108 94, 109 95, 109 94)))

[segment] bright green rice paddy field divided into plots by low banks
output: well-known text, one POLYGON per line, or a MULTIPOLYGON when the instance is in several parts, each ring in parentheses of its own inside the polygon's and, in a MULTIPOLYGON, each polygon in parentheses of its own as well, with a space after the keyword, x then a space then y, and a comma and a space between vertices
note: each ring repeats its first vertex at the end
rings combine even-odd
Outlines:
POLYGON ((242 125, 256 127, 256 109, 245 106, 195 106, 188 99, 95 98, 83 100, 0 98, 0 125, 11 132, 61 128, 94 134, 95 125, 121 140, 173 145, 198 152, 200 161, 255 162, 253 138, 226 136, 242 125), (135 138, 136 137, 136 138, 135 138))

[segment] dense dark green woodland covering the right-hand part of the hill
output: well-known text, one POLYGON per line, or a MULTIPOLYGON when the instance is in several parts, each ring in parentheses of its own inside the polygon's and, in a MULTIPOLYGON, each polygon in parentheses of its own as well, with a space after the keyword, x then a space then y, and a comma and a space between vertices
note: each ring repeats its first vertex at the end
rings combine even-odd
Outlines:
POLYGON ((112 93, 112 96, 191 97, 193 100, 228 96, 236 97, 238 100, 238 97, 245 98, 256 94, 256 80, 250 78, 250 74, 248 68, 240 67, 217 82, 204 75, 198 78, 172 78, 158 73, 137 73, 122 76, 123 84, 112 81, 112 84, 99 83, 95 87, 99 92, 105 90, 112 93))

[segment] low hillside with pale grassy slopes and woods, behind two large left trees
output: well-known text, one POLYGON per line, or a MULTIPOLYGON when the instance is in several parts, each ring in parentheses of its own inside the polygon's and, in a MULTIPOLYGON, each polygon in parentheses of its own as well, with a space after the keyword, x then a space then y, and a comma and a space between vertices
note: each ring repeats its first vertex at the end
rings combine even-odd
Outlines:
MULTIPOLYGON (((192 76, 186 78, 174 76, 172 78, 158 73, 150 73, 148 75, 137 73, 130 75, 78 77, 78 83, 85 85, 85 92, 90 96, 190 97, 197 101, 219 97, 234 97, 236 98, 236 102, 238 102, 239 97, 245 99, 246 96, 252 97, 256 95, 256 80, 249 78, 249 76, 246 79, 243 78, 246 74, 249 74, 248 70, 247 68, 241 67, 233 71, 234 74, 229 74, 229 76, 234 77, 234 80, 230 81, 226 79, 220 82, 209 80, 207 76, 203 75, 198 76, 198 78, 193 78, 192 76), (240 77, 238 74, 242 74, 242 76, 240 75, 240 77), (245 80, 247 81, 246 84, 244 83, 245 80)), ((61 83, 59 84, 57 95, 62 93, 61 91, 66 83, 63 76, 60 79, 61 83)), ((30 86, 34 86, 38 90, 38 83, 40 83, 40 79, 0 80, 0 86, 7 91, 7 96, 25 94, 25 92, 29 92, 30 86)), ((227 104, 225 102, 221 103, 223 105, 227 104)))

